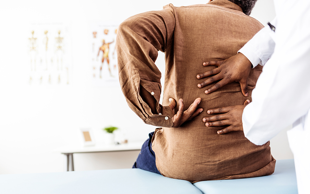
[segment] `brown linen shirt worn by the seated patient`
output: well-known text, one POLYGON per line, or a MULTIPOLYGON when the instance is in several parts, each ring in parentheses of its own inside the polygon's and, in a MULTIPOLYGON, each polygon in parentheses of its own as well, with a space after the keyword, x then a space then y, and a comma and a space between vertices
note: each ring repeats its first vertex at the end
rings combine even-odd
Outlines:
MULTIPOLYGON (((275 160, 269 142, 256 146, 242 131, 218 135, 224 127, 206 127, 203 117, 208 109, 241 105, 251 100, 251 92, 261 73, 252 69, 248 79, 249 96, 244 97, 237 82, 210 94, 198 88, 197 74, 214 69, 205 61, 224 60, 233 56, 261 28, 257 20, 246 16, 241 8, 227 0, 207 4, 149 11, 125 20, 117 31, 119 80, 130 108, 146 123, 160 126, 155 130, 152 149, 159 172, 170 178, 191 182, 249 178, 270 175, 275 160), (165 52, 166 70, 163 106, 161 72, 155 65, 158 51, 165 52), (141 96, 140 87, 153 95, 157 113, 141 96), (171 128, 169 98, 184 100, 188 108, 201 97, 204 111, 179 128, 171 128)), ((178 110, 178 104, 176 107, 178 110)))

